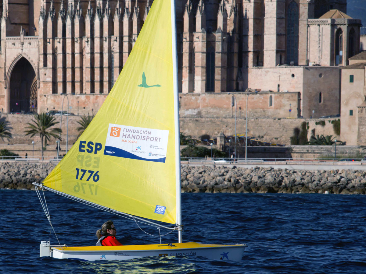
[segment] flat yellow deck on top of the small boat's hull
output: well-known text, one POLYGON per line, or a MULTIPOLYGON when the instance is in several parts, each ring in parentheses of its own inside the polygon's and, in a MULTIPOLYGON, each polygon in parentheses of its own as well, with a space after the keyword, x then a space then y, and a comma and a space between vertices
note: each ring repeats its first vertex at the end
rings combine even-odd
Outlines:
POLYGON ((246 246, 245 244, 201 244, 201 243, 175 243, 168 244, 141 244, 135 246, 80 246, 80 247, 52 247, 60 251, 116 251, 116 250, 169 250, 169 249, 191 249, 191 248, 212 248, 212 247, 234 247, 246 246))

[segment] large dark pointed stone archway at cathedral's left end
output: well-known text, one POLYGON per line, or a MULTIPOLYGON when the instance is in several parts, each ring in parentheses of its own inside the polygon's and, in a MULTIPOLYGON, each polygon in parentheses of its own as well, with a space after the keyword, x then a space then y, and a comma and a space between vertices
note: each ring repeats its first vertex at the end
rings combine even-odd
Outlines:
POLYGON ((9 81, 10 112, 37 112, 37 78, 33 66, 22 57, 12 69, 9 81))

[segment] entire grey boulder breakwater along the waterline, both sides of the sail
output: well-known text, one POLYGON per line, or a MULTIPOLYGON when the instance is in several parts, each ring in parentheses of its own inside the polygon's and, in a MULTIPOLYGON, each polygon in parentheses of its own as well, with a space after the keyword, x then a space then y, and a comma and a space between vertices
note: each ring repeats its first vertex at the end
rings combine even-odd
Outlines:
MULTIPOLYGON (((34 189, 55 167, 51 163, 0 164, 0 189, 34 189)), ((182 165, 182 192, 365 194, 366 171, 287 170, 182 165)))

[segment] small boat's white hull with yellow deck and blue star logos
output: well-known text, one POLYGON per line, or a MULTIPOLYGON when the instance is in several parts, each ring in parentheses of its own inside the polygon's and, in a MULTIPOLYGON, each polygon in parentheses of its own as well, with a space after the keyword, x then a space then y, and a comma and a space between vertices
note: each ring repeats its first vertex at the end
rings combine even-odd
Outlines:
POLYGON ((200 243, 148 244, 138 246, 51 247, 57 259, 129 260, 147 256, 202 256, 212 260, 240 261, 245 244, 218 245, 200 243))

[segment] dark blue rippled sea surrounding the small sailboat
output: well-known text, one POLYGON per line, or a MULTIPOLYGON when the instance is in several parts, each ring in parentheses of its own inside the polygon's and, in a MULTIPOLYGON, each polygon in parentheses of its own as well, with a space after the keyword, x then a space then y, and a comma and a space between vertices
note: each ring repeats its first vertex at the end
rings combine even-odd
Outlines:
MULTIPOLYGON (((158 243, 126 220, 45 192, 61 244, 96 243, 115 222, 123 244, 158 243)), ((0 273, 366 273, 366 197, 332 194, 183 193, 183 241, 248 245, 241 262, 200 257, 150 257, 79 262, 39 258, 50 226, 35 191, 0 190, 0 273)), ((143 226, 158 235, 156 228, 143 226)), ((162 234, 164 230, 161 231, 162 234)), ((176 242, 176 233, 163 237, 176 242)), ((57 244, 51 234, 51 244, 57 244)))

